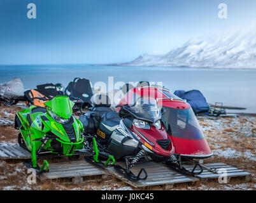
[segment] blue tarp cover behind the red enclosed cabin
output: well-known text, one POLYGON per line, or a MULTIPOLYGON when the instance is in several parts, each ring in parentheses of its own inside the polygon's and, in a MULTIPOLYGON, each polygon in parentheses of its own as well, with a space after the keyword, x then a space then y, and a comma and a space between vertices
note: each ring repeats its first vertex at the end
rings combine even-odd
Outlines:
POLYGON ((201 91, 193 89, 190 91, 176 90, 174 95, 187 100, 196 114, 208 112, 210 107, 201 91))

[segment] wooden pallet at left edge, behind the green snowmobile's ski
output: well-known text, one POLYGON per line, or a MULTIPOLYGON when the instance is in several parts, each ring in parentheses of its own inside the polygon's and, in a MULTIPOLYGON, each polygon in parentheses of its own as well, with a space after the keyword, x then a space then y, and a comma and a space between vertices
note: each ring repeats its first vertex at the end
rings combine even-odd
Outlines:
POLYGON ((19 145, 0 143, 0 159, 31 159, 31 154, 19 145))

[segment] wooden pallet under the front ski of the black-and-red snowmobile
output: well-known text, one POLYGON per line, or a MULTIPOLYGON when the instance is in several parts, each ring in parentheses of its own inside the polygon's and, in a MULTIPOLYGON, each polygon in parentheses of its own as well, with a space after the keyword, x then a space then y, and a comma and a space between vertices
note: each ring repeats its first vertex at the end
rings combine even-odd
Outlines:
MULTIPOLYGON (((124 167, 124 162, 117 162, 120 166, 124 167)), ((175 183, 188 183, 198 181, 198 178, 188 177, 184 174, 178 173, 173 169, 165 166, 164 164, 159 164, 155 162, 145 162, 141 164, 137 164, 132 167, 131 171, 134 174, 138 174, 139 170, 144 168, 146 173, 148 174, 148 178, 146 180, 141 181, 130 181, 120 173, 117 173, 113 167, 109 169, 110 173, 113 174, 116 178, 124 181, 125 183, 131 185, 134 188, 146 188, 160 185, 164 189, 169 189, 173 187, 175 183)), ((143 174, 141 174, 143 176, 143 174)))

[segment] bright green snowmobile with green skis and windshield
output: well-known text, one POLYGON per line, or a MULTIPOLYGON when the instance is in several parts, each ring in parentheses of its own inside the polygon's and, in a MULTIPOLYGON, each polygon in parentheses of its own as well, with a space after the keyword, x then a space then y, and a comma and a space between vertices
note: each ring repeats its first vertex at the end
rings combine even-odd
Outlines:
POLYGON ((24 162, 25 166, 41 173, 48 171, 49 164, 44 160, 39 167, 38 158, 77 154, 92 156, 94 162, 103 166, 110 160, 115 164, 112 156, 105 163, 98 159, 96 139, 83 136, 83 124, 72 115, 74 104, 68 96, 56 96, 45 102, 46 108, 31 106, 17 112, 15 129, 20 130, 18 144, 31 152, 32 161, 24 162), (92 145, 88 145, 89 142, 92 145))

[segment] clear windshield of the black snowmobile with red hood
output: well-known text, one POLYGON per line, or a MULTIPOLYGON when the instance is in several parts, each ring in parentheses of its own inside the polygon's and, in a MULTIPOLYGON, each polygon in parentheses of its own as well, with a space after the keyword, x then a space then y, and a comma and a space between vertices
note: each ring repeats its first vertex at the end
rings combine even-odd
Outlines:
POLYGON ((129 111, 140 120, 155 122, 161 118, 161 109, 157 101, 152 97, 138 98, 134 105, 129 107, 129 111))

